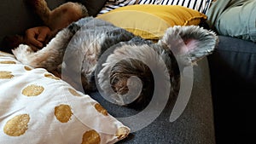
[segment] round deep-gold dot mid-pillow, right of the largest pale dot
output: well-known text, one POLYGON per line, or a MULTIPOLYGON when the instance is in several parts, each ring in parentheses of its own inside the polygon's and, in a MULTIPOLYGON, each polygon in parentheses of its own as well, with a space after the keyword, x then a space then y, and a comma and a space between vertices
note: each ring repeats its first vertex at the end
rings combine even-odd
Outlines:
POLYGON ((61 123, 67 123, 73 115, 73 112, 71 111, 71 107, 68 105, 60 105, 58 107, 55 107, 55 117, 61 122, 61 123))

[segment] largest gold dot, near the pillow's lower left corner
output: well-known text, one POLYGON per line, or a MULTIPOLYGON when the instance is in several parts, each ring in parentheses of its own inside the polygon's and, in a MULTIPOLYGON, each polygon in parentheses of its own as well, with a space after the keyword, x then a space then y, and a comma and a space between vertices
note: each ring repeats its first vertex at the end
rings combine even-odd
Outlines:
POLYGON ((28 129, 27 124, 30 120, 28 114, 20 114, 11 118, 3 127, 3 132, 10 136, 23 135, 28 129))

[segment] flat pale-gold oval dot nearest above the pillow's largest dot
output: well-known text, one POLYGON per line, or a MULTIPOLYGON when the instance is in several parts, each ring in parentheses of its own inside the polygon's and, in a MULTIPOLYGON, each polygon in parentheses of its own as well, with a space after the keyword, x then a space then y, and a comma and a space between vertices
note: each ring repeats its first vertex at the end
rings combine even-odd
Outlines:
POLYGON ((43 86, 32 84, 27 86, 25 89, 23 89, 22 94, 26 96, 38 96, 42 94, 43 91, 44 91, 43 86))

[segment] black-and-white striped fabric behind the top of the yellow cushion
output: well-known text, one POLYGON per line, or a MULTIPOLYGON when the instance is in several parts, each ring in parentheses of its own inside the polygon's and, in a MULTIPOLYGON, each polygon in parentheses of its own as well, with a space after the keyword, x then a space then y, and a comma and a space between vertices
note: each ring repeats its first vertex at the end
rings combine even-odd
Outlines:
POLYGON ((99 14, 132 4, 180 5, 206 14, 211 3, 212 0, 108 0, 99 14))

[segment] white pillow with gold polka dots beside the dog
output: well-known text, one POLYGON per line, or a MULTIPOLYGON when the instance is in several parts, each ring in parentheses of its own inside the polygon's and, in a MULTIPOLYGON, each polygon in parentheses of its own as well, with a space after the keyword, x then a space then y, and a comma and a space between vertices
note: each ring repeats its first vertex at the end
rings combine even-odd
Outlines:
POLYGON ((0 143, 105 144, 130 129, 43 68, 0 52, 0 143))

